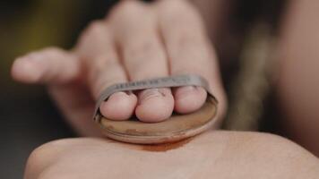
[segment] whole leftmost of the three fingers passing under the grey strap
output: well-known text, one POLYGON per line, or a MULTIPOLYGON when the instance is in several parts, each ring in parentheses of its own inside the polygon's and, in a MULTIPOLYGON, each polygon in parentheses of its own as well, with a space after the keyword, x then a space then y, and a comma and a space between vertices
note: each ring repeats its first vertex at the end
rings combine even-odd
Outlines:
MULTIPOLYGON (((88 69, 88 83, 94 98, 99 98, 102 90, 108 86, 126 82, 111 32, 102 22, 94 22, 82 35, 77 53, 88 69)), ((134 113, 137 98, 133 93, 117 92, 111 95, 99 107, 102 115, 114 119, 125 120, 134 113)))

